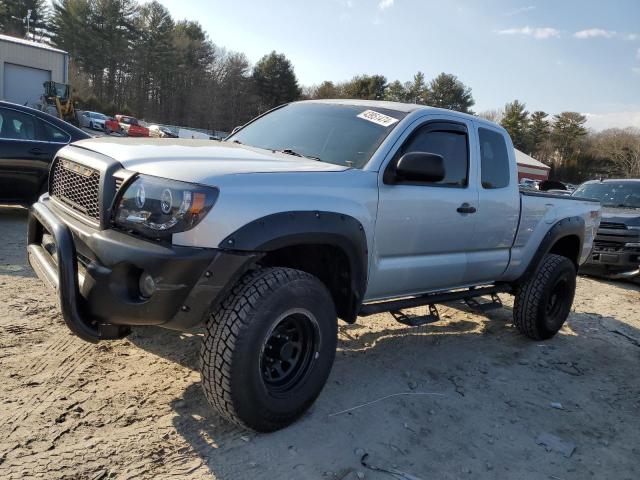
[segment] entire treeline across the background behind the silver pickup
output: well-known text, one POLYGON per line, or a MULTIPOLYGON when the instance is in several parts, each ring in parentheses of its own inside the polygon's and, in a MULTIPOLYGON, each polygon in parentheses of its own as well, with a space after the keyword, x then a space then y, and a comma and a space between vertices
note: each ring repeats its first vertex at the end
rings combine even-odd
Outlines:
MULTIPOLYGON (((130 113, 150 122, 229 131, 282 103, 304 98, 360 98, 418 103, 473 114, 471 88, 455 75, 389 82, 360 75, 301 87, 293 65, 276 52, 251 65, 225 50, 199 23, 175 21, 157 1, 0 0, 0 32, 69 52, 70 83, 79 106, 130 113)), ((640 177, 640 131, 593 133, 577 112, 549 115, 514 101, 482 112, 503 125, 516 148, 552 168, 553 178, 640 177)))

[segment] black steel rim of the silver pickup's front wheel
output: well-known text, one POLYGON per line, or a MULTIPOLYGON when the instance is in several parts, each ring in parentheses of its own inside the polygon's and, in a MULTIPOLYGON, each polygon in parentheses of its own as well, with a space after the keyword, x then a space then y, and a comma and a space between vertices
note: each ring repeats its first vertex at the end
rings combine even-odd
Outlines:
POLYGON ((311 372, 316 360, 320 332, 310 312, 282 315, 265 338, 260 354, 260 373, 271 394, 289 392, 311 372))

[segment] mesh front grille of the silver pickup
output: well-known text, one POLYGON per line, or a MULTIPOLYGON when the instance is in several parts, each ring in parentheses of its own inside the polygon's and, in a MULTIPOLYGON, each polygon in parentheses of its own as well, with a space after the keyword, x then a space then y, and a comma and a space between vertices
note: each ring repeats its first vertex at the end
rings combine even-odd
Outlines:
POLYGON ((50 193, 57 200, 93 220, 100 220, 100 172, 58 158, 51 172, 50 193))

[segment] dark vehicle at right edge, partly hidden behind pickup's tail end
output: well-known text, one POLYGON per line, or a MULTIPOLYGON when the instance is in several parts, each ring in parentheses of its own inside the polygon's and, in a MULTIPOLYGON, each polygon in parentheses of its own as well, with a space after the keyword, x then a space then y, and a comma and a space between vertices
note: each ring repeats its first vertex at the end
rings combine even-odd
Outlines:
POLYGON ((574 196, 602 203, 602 221, 584 273, 610 278, 640 278, 640 179, 592 180, 574 196))

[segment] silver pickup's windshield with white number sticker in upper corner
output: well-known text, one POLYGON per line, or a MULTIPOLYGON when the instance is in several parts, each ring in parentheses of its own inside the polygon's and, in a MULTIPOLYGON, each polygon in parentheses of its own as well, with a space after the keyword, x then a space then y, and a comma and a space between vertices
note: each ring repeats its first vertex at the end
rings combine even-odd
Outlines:
POLYGON ((362 168, 405 115, 385 108, 293 103, 258 118, 227 140, 362 168))

